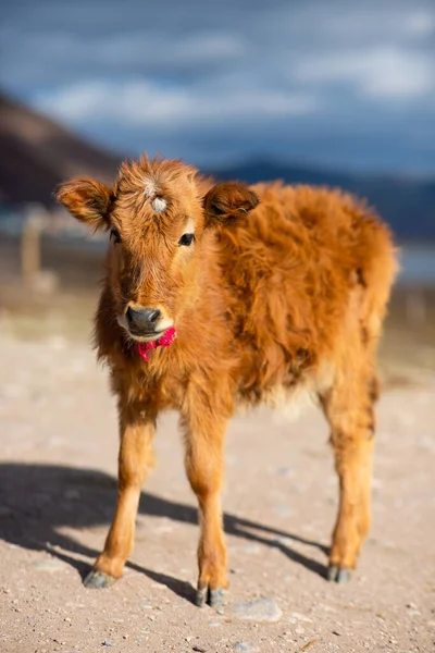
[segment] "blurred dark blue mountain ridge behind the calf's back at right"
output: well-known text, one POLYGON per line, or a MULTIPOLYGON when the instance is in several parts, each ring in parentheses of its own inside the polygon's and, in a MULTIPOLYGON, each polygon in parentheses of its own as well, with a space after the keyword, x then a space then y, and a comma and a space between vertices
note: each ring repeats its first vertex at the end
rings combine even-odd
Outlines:
POLYGON ((345 188, 365 198, 398 237, 435 238, 435 178, 424 181, 399 175, 358 175, 260 159, 213 170, 211 174, 220 180, 233 178, 249 184, 283 180, 289 184, 345 188))

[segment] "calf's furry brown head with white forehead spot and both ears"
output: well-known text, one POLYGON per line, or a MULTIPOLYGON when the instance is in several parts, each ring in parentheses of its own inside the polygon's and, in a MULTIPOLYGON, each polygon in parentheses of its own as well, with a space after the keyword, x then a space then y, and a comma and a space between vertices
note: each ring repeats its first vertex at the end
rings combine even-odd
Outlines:
POLYGON ((108 284, 119 323, 139 342, 154 341, 192 309, 204 233, 258 204, 247 187, 210 187, 195 168, 165 159, 123 163, 113 188, 90 178, 65 182, 57 197, 79 221, 110 232, 108 284))

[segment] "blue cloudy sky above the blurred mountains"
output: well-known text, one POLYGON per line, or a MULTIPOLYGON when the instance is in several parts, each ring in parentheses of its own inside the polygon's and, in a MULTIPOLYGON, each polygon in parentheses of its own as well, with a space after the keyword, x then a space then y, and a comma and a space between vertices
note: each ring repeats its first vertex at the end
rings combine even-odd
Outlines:
POLYGON ((435 0, 15 0, 0 88, 126 156, 435 175, 435 0))

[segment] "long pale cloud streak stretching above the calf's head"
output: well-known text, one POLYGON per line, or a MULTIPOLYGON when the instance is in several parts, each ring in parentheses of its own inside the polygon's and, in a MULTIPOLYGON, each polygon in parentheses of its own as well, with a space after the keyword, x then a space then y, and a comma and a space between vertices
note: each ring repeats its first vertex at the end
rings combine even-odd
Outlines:
POLYGON ((252 121, 315 112, 313 96, 268 88, 165 87, 148 81, 87 82, 37 95, 35 104, 71 123, 127 121, 130 125, 181 128, 199 123, 252 121), (226 90, 226 93, 225 93, 226 90))

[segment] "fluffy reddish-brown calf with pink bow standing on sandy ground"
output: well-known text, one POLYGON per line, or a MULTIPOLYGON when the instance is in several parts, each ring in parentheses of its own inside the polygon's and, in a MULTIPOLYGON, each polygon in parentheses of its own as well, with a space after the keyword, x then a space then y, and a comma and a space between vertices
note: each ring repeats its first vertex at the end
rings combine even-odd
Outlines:
POLYGON ((340 497, 328 578, 344 581, 370 526, 375 352, 396 269, 389 233, 338 192, 213 186, 196 172, 142 158, 121 167, 113 188, 85 178, 58 193, 75 218, 111 232, 96 341, 119 399, 119 498, 85 584, 122 576, 156 419, 175 408, 199 503, 197 601, 215 605, 228 584, 228 419, 240 404, 277 406, 300 391, 331 424, 340 497))

